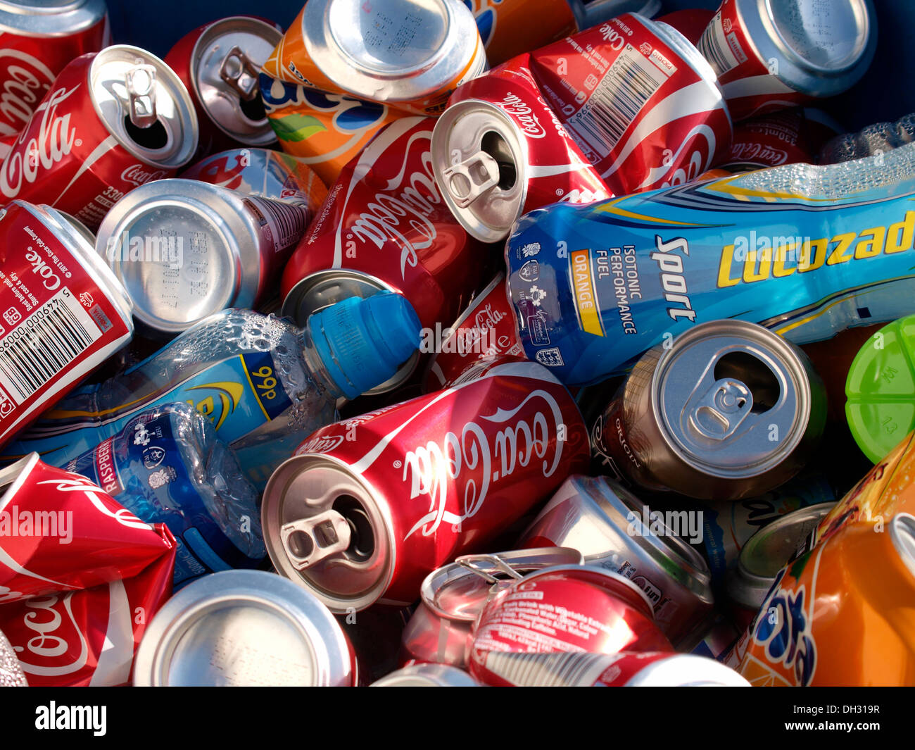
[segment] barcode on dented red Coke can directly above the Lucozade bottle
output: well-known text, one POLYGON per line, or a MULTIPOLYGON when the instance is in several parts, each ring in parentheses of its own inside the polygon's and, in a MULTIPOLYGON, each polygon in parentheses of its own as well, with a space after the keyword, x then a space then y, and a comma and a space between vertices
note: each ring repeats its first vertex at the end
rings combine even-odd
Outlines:
POLYGON ((666 72, 627 44, 585 106, 565 125, 605 158, 665 81, 666 72))

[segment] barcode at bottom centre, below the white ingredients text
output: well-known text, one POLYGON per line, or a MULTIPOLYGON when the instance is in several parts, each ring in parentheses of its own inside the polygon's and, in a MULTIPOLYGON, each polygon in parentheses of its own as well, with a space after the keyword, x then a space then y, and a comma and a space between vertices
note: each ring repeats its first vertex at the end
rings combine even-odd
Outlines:
POLYGON ((607 654, 571 651, 560 654, 520 654, 490 651, 486 668, 519 687, 590 687, 614 658, 607 654))

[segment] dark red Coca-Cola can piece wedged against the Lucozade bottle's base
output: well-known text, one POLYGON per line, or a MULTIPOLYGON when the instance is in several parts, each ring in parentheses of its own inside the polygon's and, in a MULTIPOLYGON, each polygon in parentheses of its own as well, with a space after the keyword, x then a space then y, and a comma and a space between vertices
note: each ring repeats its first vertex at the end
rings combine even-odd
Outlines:
MULTIPOLYGON (((503 272, 474 298, 450 328, 441 332, 436 328, 435 333, 436 355, 425 371, 425 393, 453 385, 482 357, 524 355, 505 292, 503 272)), ((420 351, 427 348, 428 342, 421 342, 420 351)))

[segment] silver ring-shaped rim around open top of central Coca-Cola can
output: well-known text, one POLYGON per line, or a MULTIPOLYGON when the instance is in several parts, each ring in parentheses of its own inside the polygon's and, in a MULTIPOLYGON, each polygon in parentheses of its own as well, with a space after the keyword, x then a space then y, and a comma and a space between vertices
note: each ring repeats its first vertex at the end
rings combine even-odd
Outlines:
POLYGON ((346 462, 336 456, 327 453, 298 453, 281 463, 264 487, 264 497, 261 503, 261 527, 264 529, 264 546, 276 571, 281 576, 295 582, 296 585, 313 593, 334 614, 346 614, 353 609, 357 612, 367 609, 381 600, 390 588, 397 564, 397 546, 393 538, 391 509, 384 495, 377 492, 364 475, 354 473, 346 462), (351 483, 350 490, 352 485, 358 485, 362 492, 361 496, 356 497, 356 500, 361 503, 370 517, 374 516, 376 519, 372 531, 376 546, 383 545, 379 555, 383 559, 383 570, 371 585, 364 587, 363 592, 356 596, 346 597, 334 594, 312 582, 307 577, 307 569, 296 571, 286 557, 282 542, 279 540, 280 527, 284 524, 283 508, 289 485, 299 474, 304 473, 311 466, 339 473, 341 479, 351 483), (282 486, 280 486, 281 484, 282 486))

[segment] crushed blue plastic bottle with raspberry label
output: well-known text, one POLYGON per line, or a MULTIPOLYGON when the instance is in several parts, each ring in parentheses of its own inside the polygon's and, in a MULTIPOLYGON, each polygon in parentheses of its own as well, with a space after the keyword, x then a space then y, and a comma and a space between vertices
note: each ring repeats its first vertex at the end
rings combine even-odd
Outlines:
POLYGON ((73 459, 82 474, 178 542, 174 583, 231 568, 255 568, 267 555, 257 492, 210 420, 189 404, 154 407, 73 459))

